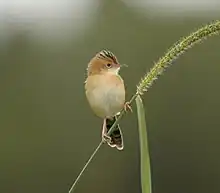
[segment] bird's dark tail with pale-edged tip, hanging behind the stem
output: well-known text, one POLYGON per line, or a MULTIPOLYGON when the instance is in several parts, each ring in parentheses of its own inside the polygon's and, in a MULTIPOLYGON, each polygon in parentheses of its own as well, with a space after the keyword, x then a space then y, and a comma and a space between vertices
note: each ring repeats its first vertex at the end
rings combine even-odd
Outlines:
MULTIPOLYGON (((106 131, 108 133, 111 126, 115 123, 117 117, 114 116, 113 118, 107 118, 106 121, 106 131)), ((116 147, 118 150, 122 150, 124 148, 123 136, 122 131, 120 129, 119 124, 116 125, 114 131, 109 135, 110 140, 107 141, 108 145, 111 147, 116 147)))

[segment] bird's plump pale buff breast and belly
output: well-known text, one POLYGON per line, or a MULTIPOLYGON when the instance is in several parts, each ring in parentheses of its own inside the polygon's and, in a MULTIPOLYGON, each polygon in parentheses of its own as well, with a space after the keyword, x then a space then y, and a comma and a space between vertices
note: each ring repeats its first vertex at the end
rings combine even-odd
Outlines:
POLYGON ((89 104, 99 117, 114 116, 123 108, 125 88, 120 77, 91 76, 88 77, 85 87, 89 104))

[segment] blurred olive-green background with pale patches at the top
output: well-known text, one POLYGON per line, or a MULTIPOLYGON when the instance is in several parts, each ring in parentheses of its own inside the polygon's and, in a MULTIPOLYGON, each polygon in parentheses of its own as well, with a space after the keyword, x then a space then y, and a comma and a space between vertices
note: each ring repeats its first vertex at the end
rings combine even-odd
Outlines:
MULTIPOLYGON (((0 192, 64 193, 100 141, 87 63, 115 53, 127 97, 180 37, 213 19, 215 0, 1 0, 0 192)), ((220 37, 181 56, 143 96, 153 193, 220 192, 220 37)), ((125 149, 103 145, 76 193, 141 192, 134 113, 125 149)))

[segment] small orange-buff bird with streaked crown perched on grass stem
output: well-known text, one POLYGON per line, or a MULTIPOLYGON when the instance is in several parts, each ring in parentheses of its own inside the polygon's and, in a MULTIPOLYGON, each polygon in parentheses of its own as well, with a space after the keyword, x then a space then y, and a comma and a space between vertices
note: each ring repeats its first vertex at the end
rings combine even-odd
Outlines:
POLYGON ((119 124, 110 135, 108 131, 123 108, 131 110, 129 102, 125 102, 125 85, 119 75, 121 66, 111 51, 101 50, 88 63, 85 81, 88 103, 94 113, 103 119, 102 141, 118 150, 124 149, 119 124))

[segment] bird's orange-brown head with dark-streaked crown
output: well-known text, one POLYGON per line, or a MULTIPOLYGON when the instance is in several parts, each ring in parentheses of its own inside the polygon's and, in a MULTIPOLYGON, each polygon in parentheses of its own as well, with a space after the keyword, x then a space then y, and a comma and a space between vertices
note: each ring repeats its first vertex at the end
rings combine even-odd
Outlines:
POLYGON ((87 74, 88 76, 100 73, 118 74, 119 70, 120 64, 116 56, 108 50, 102 50, 90 60, 87 74))

